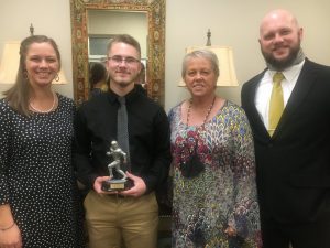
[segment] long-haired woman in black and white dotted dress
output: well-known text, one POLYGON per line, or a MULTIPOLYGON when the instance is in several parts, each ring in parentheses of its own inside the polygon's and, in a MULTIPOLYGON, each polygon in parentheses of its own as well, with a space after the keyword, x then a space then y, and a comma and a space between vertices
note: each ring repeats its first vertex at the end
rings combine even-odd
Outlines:
POLYGON ((0 247, 84 247, 72 166, 75 106, 52 90, 61 56, 44 35, 20 47, 0 100, 0 247))

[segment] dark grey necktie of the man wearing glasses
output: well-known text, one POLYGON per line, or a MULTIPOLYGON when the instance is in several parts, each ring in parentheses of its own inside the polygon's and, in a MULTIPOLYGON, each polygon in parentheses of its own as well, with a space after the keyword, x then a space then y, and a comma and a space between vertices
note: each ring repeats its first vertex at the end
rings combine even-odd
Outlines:
POLYGON ((130 142, 129 142, 129 123, 128 123, 128 110, 124 97, 118 97, 120 107, 117 116, 117 139, 119 147, 127 153, 128 164, 123 164, 123 171, 128 171, 130 168, 130 142))

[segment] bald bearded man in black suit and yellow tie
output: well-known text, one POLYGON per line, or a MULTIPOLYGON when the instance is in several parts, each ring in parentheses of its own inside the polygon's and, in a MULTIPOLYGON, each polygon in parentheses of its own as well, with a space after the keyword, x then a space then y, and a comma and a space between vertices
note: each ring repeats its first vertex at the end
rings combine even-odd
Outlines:
POLYGON ((305 57, 301 40, 289 11, 267 13, 258 39, 267 68, 242 87, 264 248, 330 246, 330 67, 305 57))

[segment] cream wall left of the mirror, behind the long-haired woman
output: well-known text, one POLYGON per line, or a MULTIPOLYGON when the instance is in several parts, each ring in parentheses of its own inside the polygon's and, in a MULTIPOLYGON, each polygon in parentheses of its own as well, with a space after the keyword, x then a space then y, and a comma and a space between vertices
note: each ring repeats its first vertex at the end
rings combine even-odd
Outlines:
MULTIPOLYGON (((30 35, 31 23, 34 34, 45 34, 55 40, 66 77, 73 82, 69 0, 0 0, 0 57, 4 42, 21 41, 30 35)), ((0 93, 8 87, 0 84, 0 93)), ((72 83, 54 88, 68 97, 74 95, 72 83)))

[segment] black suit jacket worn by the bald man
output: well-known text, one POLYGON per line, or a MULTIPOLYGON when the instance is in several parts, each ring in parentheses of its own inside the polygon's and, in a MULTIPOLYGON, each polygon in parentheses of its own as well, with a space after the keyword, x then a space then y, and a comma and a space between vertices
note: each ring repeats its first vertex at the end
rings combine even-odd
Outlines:
POLYGON ((261 212, 279 223, 310 222, 330 191, 330 67, 306 58, 272 138, 254 105, 265 72, 241 96, 254 136, 261 212))

